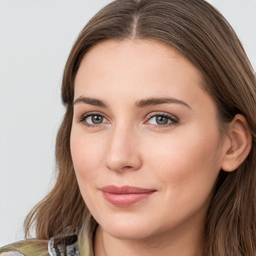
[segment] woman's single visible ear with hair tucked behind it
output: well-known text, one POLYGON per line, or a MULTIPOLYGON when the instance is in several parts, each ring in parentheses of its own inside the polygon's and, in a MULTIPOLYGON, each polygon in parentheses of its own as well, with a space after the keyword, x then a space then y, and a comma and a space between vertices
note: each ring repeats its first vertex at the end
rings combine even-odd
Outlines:
POLYGON ((229 131, 222 158, 222 170, 233 171, 247 157, 251 148, 251 134, 245 117, 236 114, 229 124, 229 131))

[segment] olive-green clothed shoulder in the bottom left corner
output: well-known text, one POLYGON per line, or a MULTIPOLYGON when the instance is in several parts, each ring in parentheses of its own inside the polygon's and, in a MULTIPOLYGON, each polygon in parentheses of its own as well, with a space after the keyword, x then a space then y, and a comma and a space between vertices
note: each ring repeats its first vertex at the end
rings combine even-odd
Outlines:
POLYGON ((27 239, 0 248, 0 256, 49 256, 48 240, 27 239))

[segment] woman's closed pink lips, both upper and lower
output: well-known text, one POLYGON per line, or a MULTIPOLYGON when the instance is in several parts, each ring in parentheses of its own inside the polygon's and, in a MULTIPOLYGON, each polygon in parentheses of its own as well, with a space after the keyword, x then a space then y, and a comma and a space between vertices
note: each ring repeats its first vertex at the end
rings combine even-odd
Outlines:
POLYGON ((148 198, 156 189, 147 189, 136 186, 108 185, 100 188, 106 201, 114 206, 128 207, 138 201, 148 198))

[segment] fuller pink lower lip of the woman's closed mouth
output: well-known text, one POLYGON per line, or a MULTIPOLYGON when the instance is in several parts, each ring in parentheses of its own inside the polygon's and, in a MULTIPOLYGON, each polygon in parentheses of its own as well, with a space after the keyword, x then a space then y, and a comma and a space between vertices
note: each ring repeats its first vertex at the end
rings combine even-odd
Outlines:
POLYGON ((130 194, 114 194, 103 192, 104 198, 114 206, 118 207, 128 207, 135 204, 138 201, 148 198, 154 191, 146 193, 130 193, 130 194))

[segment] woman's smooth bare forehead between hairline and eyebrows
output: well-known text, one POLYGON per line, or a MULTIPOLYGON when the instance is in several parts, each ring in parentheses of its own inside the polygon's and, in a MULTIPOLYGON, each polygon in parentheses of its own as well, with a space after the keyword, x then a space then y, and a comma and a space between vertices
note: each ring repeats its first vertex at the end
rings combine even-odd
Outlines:
MULTIPOLYGON (((75 77, 74 98, 95 96, 121 99, 198 95, 200 72, 173 48, 155 41, 107 40, 83 57, 75 77)), ((189 100, 195 100, 190 97, 189 100)))

